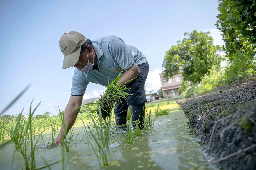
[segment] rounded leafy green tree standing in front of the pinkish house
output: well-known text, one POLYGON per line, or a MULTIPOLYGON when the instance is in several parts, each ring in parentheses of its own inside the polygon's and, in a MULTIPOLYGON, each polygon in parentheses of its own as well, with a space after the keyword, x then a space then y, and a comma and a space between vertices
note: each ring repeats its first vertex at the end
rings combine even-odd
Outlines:
POLYGON ((167 80, 175 74, 182 73, 184 81, 198 83, 202 77, 215 66, 220 67, 221 48, 213 45, 210 32, 184 33, 185 38, 178 41, 165 54, 162 64, 163 76, 167 80), (179 68, 182 68, 182 72, 179 68))

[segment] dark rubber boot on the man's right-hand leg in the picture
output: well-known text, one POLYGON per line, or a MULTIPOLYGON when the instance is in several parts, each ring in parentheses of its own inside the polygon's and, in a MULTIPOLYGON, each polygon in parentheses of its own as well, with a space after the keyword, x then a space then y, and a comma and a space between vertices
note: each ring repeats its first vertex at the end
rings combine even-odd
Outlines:
POLYGON ((131 112, 132 126, 143 128, 144 117, 145 117, 145 106, 144 103, 139 105, 129 106, 131 112))

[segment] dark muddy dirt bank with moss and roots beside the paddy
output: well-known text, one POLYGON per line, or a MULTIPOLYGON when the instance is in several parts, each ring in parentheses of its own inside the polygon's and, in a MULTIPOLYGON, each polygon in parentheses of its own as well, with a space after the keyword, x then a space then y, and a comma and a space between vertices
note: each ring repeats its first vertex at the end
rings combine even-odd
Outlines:
POLYGON ((256 82, 180 100, 191 133, 221 169, 256 169, 256 82))

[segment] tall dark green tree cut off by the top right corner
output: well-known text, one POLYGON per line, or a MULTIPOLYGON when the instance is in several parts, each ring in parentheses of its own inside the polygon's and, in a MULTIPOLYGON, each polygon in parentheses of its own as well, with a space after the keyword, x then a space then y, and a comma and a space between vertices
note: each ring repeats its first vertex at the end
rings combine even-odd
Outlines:
POLYGON ((255 73, 256 2, 220 0, 217 28, 222 31, 228 58, 228 83, 255 73))

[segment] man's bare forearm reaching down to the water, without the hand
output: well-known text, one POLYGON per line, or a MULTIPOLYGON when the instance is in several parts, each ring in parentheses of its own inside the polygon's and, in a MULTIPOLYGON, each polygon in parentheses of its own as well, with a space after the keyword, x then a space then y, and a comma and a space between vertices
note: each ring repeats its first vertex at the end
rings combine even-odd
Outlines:
MULTIPOLYGON (((66 109, 65 109, 65 113, 64 113, 64 117, 65 117, 65 122, 66 122, 66 127, 67 127, 67 134, 69 132, 69 130, 72 128, 72 126, 74 125, 77 115, 80 111, 80 108, 75 109, 76 107, 72 106, 72 105, 67 105, 66 109), (72 111, 73 110, 73 111, 72 111)), ((61 140, 61 137, 63 137, 64 139, 64 129, 63 129, 63 125, 61 125, 61 129, 59 131, 59 135, 56 138, 57 140, 61 140)))

